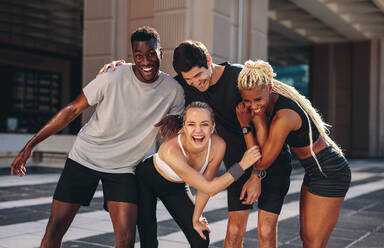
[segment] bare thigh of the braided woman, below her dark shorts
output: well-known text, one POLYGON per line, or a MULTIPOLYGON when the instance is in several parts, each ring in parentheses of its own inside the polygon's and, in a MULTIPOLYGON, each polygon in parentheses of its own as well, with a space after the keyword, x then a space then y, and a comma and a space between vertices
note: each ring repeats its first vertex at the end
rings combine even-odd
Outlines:
POLYGON ((304 248, 325 248, 337 223, 344 197, 323 197, 301 187, 300 236, 304 248))

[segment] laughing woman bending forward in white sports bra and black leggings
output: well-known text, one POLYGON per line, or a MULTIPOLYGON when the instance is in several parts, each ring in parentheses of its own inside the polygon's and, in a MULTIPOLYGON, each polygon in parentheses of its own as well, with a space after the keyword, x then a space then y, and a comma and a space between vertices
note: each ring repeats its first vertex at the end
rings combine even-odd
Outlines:
POLYGON ((158 247, 157 198, 191 247, 208 247, 210 229, 201 215, 209 197, 224 190, 260 159, 259 148, 254 146, 227 173, 214 179, 225 153, 225 142, 214 130, 212 109, 206 103, 192 102, 184 111, 180 134, 137 166, 141 247, 158 247), (195 204, 186 183, 197 190, 195 204))

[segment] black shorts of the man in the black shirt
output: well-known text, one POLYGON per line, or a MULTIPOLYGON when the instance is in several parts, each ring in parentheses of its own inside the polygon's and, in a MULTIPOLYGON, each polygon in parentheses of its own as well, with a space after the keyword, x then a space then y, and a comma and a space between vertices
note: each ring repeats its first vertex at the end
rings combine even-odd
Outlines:
MULTIPOLYGON (((280 214, 284 198, 289 190, 291 171, 291 154, 288 150, 283 150, 267 169, 267 176, 261 180, 261 194, 257 201, 259 209, 280 214)), ((253 205, 245 205, 240 200, 241 190, 251 172, 252 168, 249 168, 243 176, 228 187, 228 211, 253 208, 253 205)))

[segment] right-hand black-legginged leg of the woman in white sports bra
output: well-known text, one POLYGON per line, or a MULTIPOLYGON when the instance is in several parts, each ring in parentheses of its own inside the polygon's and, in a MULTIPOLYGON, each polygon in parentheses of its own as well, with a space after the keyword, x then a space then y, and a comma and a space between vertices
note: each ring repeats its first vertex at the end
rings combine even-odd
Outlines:
POLYGON ((164 203, 168 212, 172 215, 173 219, 184 232, 191 247, 208 247, 208 233, 206 234, 207 239, 204 240, 193 228, 192 217, 195 205, 191 199, 189 190, 186 189, 184 192, 177 190, 174 194, 164 194, 163 196, 160 196, 160 199, 164 203))

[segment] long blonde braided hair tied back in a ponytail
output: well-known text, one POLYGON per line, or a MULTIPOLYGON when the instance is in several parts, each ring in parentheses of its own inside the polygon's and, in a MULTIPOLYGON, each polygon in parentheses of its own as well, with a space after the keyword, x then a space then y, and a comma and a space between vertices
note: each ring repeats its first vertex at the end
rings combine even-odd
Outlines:
POLYGON ((272 66, 268 62, 265 62, 263 60, 248 60, 247 62, 245 62, 244 68, 239 74, 237 87, 239 88, 239 90, 251 90, 271 85, 273 93, 285 96, 294 101, 301 108, 301 110, 303 110, 305 116, 307 117, 309 126, 309 146, 311 154, 312 157, 316 160, 316 163, 321 173, 323 173, 319 162, 317 161, 317 157, 313 152, 312 127, 310 119, 313 121, 313 123, 319 130, 320 135, 325 138, 328 144, 330 144, 339 154, 343 155, 343 152, 340 147, 328 135, 328 127, 330 127, 330 125, 328 125, 321 119, 320 114, 305 96, 301 95, 292 86, 289 86, 274 79, 275 76, 276 73, 273 72, 272 66))

